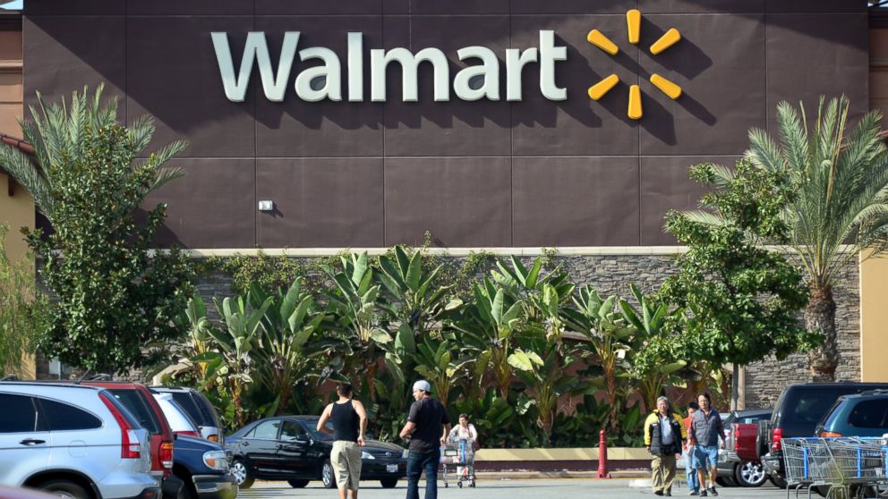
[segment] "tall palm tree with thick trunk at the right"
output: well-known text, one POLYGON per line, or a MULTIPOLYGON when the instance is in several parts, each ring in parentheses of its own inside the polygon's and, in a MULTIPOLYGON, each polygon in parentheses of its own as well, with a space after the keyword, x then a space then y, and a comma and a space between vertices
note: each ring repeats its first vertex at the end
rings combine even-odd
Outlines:
POLYGON ((808 361, 815 375, 834 379, 839 347, 832 286, 861 251, 871 250, 872 258, 888 247, 888 148, 880 112, 867 114, 850 131, 848 98, 824 100, 810 127, 804 106, 781 102, 779 143, 763 130, 750 131, 746 156, 759 168, 788 176, 798 193, 784 206, 786 241, 807 275, 807 330, 824 337, 808 361))

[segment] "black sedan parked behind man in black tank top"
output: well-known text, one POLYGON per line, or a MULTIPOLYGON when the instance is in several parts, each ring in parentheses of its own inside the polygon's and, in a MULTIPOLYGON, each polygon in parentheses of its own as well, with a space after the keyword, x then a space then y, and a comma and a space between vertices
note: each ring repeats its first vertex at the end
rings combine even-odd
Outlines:
MULTIPOLYGON (((317 416, 281 416, 260 419, 227 436, 237 484, 247 488, 260 478, 303 487, 320 480, 325 487, 336 488, 330 465, 333 436, 317 431, 317 426, 317 416)), ((406 477, 404 447, 367 440, 362 451, 362 480, 380 480, 383 487, 391 488, 406 477)))

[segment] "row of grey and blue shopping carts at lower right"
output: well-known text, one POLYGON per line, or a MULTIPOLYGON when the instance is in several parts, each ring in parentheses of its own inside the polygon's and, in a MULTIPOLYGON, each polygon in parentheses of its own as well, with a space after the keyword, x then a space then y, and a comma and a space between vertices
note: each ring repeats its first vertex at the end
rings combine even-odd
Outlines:
POLYGON ((786 438, 782 441, 790 490, 827 491, 828 499, 875 497, 888 485, 888 440, 867 437, 786 438))

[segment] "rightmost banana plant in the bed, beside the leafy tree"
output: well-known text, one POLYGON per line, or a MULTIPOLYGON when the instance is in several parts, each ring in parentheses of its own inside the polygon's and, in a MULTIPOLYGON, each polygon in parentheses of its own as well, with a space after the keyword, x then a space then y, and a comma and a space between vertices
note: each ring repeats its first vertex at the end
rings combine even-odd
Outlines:
POLYGON ((645 408, 651 411, 656 407, 657 397, 662 395, 663 387, 687 366, 687 361, 675 359, 677 352, 674 344, 662 334, 669 305, 655 304, 653 300, 648 300, 635 284, 630 284, 629 289, 638 302, 638 308, 626 300, 620 300, 619 306, 623 310, 623 317, 626 317, 634 330, 632 376, 638 383, 645 408), (675 360, 664 363, 667 359, 675 360))

